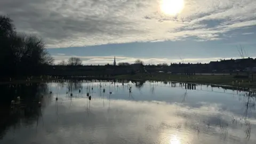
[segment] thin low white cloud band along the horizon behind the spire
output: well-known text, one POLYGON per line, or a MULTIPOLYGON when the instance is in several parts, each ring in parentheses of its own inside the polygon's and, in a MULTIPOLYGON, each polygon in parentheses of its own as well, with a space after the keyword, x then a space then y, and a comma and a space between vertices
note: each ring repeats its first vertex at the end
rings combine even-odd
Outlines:
MULTIPOLYGON (((68 60, 68 58, 74 57, 74 56, 62 56, 62 55, 53 55, 53 58, 55 60, 55 63, 59 63, 61 60, 68 60)), ((98 57, 77 57, 80 58, 83 61, 83 65, 106 65, 107 63, 113 64, 114 62, 114 56, 98 56, 98 57)), ((208 63, 210 61, 217 61, 220 59, 231 59, 231 58, 202 58, 202 59, 161 59, 161 58, 132 58, 132 57, 123 57, 123 56, 118 56, 116 57, 116 62, 129 62, 133 63, 135 60, 141 59, 142 61, 145 62, 145 64, 157 64, 157 63, 179 63, 182 62, 182 60, 185 63, 208 63)), ((238 57, 233 58, 233 59, 239 59, 238 57)))

